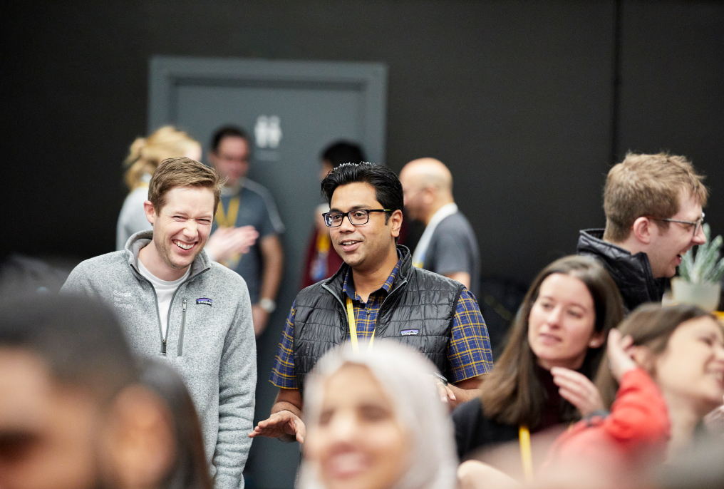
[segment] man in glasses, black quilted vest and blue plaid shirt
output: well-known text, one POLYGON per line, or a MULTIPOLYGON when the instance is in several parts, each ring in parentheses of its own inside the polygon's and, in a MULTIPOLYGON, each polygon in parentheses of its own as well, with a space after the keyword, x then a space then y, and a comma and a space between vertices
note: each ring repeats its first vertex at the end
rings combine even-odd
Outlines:
POLYGON ((399 340, 437 365, 441 398, 451 408, 478 396, 479 376, 492 369, 487 327, 464 285, 413 267, 410 251, 397 246, 403 188, 395 173, 342 164, 321 189, 330 207, 324 222, 345 263, 298 294, 269 379, 279 388, 277 400, 249 436, 303 442, 304 379, 345 341, 362 349, 379 338, 399 340))

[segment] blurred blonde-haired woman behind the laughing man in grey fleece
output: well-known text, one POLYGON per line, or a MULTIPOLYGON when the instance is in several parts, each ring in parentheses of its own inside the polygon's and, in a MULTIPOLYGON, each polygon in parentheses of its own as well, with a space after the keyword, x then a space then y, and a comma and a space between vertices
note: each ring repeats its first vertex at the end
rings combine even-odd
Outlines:
POLYGON ((136 138, 124 162, 127 167, 125 183, 130 193, 123 202, 116 225, 116 249, 122 250, 131 235, 151 230, 151 223, 143 212, 143 202, 148 200, 148 182, 159 163, 167 158, 187 156, 199 161, 201 144, 180 130, 167 125, 146 138, 136 138))

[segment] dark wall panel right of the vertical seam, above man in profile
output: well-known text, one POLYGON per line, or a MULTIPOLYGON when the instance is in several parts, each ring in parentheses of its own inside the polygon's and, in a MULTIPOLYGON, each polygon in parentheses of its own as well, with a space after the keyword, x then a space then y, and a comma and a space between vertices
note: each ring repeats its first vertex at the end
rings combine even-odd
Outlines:
POLYGON ((621 34, 619 156, 689 156, 707 175, 712 234, 724 233, 724 3, 626 2, 621 34))

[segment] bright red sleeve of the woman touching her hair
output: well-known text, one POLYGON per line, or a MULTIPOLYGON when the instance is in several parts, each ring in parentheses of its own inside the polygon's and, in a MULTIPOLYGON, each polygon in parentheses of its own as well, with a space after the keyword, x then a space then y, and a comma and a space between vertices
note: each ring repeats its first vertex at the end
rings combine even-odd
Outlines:
POLYGON ((607 417, 583 419, 560 435, 544 465, 584 457, 621 460, 632 452, 665 451, 670 436, 666 401, 643 369, 621 377, 616 400, 607 417))

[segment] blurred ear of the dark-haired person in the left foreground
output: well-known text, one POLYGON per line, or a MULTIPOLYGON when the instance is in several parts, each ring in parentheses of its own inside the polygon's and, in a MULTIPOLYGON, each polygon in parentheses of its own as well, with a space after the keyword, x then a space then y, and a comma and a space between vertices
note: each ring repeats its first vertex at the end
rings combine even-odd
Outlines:
POLYGON ((106 443, 106 467, 123 489, 159 487, 177 456, 168 407, 140 385, 125 388, 114 400, 106 443))

